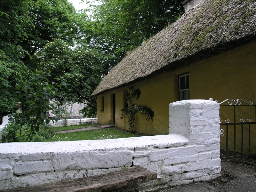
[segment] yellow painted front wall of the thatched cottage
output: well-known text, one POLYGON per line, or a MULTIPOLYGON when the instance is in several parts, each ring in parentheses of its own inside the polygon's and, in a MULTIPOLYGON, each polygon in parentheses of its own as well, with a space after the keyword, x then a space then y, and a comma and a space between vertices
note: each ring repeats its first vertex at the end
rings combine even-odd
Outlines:
MULTIPOLYGON (((149 135, 160 135, 169 133, 169 109, 168 105, 178 101, 178 76, 189 73, 190 99, 213 98, 219 102, 225 99, 253 100, 256 104, 256 41, 237 47, 214 57, 194 62, 186 67, 175 71, 167 72, 149 79, 132 84, 134 89, 139 88, 141 95, 136 102, 150 107, 154 113, 154 120, 146 121, 144 116, 137 115, 135 120, 135 131, 149 135)), ((121 109, 124 103, 124 90, 128 86, 115 89, 97 97, 97 117, 101 124, 112 122, 111 96, 116 94, 116 126, 129 129, 127 119, 120 119, 121 109), (101 96, 104 96, 104 112, 101 112, 101 96)), ((248 109, 244 108, 241 116, 245 116, 248 109)), ((226 109, 220 109, 220 117, 224 114, 231 114, 226 109)), ((251 113, 251 112, 250 112, 251 113)), ((255 115, 255 113, 254 113, 255 115)), ((246 115, 247 116, 247 115, 246 115)), ((248 114, 249 116, 249 114, 248 114)), ((247 117, 243 117, 247 118, 247 117)), ((255 116, 250 117, 255 121, 255 116)), ((225 119, 222 119, 224 122, 225 119)), ((255 125, 253 126, 254 138, 256 142, 255 125)), ((239 133, 238 133, 239 134, 239 133)), ((221 138, 223 140, 223 138, 221 138)), ((244 138, 245 140, 248 138, 244 138)), ((239 139, 238 139, 239 140, 239 139)), ((230 145, 231 146, 231 145, 230 145)), ((223 148, 223 147, 222 147, 223 148)))

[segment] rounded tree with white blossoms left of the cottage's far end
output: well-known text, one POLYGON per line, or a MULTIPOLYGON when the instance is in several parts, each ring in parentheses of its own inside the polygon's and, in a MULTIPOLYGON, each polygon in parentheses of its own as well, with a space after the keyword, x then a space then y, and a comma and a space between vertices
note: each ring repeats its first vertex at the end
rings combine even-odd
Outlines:
POLYGON ((93 90, 104 75, 103 55, 96 49, 77 46, 73 50, 66 41, 56 39, 45 45, 39 52, 42 63, 48 63, 44 72, 51 70, 52 78, 68 74, 67 86, 60 90, 56 99, 61 103, 84 103, 96 111, 96 98, 91 97, 93 90))

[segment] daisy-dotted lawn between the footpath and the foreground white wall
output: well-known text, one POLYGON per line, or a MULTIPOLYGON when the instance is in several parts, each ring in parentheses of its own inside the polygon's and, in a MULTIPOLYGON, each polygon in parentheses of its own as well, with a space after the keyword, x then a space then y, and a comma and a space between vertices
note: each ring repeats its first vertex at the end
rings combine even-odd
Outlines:
POLYGON ((77 141, 77 140, 101 140, 101 139, 117 139, 127 137, 148 136, 142 133, 132 133, 119 128, 94 129, 88 131, 77 131, 70 133, 57 133, 50 139, 44 141, 77 141))

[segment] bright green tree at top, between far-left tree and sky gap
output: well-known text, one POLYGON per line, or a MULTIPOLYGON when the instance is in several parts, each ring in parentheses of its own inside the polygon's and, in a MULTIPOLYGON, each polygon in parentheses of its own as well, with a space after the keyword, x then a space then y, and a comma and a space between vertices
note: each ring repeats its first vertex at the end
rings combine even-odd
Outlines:
POLYGON ((37 68, 36 52, 54 39, 70 44, 77 36, 77 14, 67 0, 32 0, 29 18, 32 25, 26 28, 27 37, 20 42, 25 50, 24 64, 31 70, 37 68))

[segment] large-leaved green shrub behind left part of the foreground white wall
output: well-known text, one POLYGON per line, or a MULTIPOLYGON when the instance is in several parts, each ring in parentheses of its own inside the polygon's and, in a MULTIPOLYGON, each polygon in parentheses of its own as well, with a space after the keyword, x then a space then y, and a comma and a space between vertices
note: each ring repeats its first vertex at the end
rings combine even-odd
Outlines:
MULTIPOLYGON (((50 72, 51 71, 48 73, 48 77, 51 76, 50 72)), ((37 138, 40 139, 41 136, 37 137, 39 127, 44 124, 44 121, 45 124, 49 124, 50 119, 46 111, 53 110, 54 104, 58 104, 58 102, 53 99, 59 89, 61 89, 61 85, 53 81, 50 82, 47 77, 42 76, 41 71, 36 71, 35 74, 31 73, 24 81, 20 79, 16 80, 15 90, 21 104, 20 109, 18 109, 16 113, 13 112, 8 115, 10 117, 9 121, 15 126, 9 128, 11 125, 8 125, 7 129, 14 129, 12 131, 15 131, 18 137, 15 141, 18 142, 34 141, 37 140, 37 138)), ((55 80, 60 81, 60 79, 55 80)), ((65 85, 65 82, 62 81, 61 83, 65 85)), ((54 114, 54 111, 52 113, 54 114)), ((57 122, 58 118, 54 118, 54 120, 57 122)))

